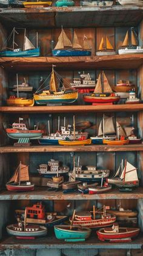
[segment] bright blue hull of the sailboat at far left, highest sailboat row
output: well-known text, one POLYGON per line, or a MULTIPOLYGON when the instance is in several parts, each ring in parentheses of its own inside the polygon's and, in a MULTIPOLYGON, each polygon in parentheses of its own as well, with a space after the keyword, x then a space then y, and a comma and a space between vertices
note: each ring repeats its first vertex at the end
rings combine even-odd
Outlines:
POLYGON ((1 57, 38 57, 40 55, 40 49, 35 48, 28 51, 1 51, 0 56, 1 57))

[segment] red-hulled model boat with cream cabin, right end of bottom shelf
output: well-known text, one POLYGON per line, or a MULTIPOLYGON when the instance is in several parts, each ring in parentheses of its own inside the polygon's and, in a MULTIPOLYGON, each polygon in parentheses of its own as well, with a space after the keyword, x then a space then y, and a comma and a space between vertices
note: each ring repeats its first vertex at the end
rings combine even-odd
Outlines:
POLYGON ((131 238, 139 234, 138 227, 119 227, 118 223, 113 224, 112 227, 105 227, 99 229, 96 233, 99 240, 110 241, 111 243, 130 242, 131 238))

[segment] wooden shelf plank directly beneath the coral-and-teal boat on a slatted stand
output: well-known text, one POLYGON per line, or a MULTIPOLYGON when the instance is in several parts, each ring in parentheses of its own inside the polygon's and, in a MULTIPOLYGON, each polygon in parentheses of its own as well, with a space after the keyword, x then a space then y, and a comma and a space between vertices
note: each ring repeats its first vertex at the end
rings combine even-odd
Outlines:
POLYGON ((0 147, 0 153, 18 152, 119 152, 119 151, 143 151, 143 144, 108 146, 108 145, 89 145, 89 146, 30 146, 30 147, 0 147))

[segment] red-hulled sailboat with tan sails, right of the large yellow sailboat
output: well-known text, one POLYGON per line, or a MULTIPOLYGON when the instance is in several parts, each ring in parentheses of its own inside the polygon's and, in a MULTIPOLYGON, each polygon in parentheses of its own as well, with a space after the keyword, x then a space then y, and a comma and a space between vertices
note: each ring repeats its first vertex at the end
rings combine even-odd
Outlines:
POLYGON ((93 93, 84 94, 83 99, 85 102, 104 104, 118 102, 120 97, 115 96, 115 93, 113 93, 104 71, 102 71, 102 73, 99 74, 98 82, 93 93))

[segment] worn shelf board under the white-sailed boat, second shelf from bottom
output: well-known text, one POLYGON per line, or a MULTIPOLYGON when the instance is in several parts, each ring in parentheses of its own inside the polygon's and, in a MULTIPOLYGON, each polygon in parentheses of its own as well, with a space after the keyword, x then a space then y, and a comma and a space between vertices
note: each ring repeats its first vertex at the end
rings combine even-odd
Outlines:
POLYGON ((143 188, 139 187, 131 193, 120 192, 118 188, 113 188, 108 193, 103 194, 81 194, 67 193, 62 191, 48 191, 47 187, 35 187, 34 191, 15 192, 1 191, 0 200, 100 200, 100 199, 143 199, 143 188))

